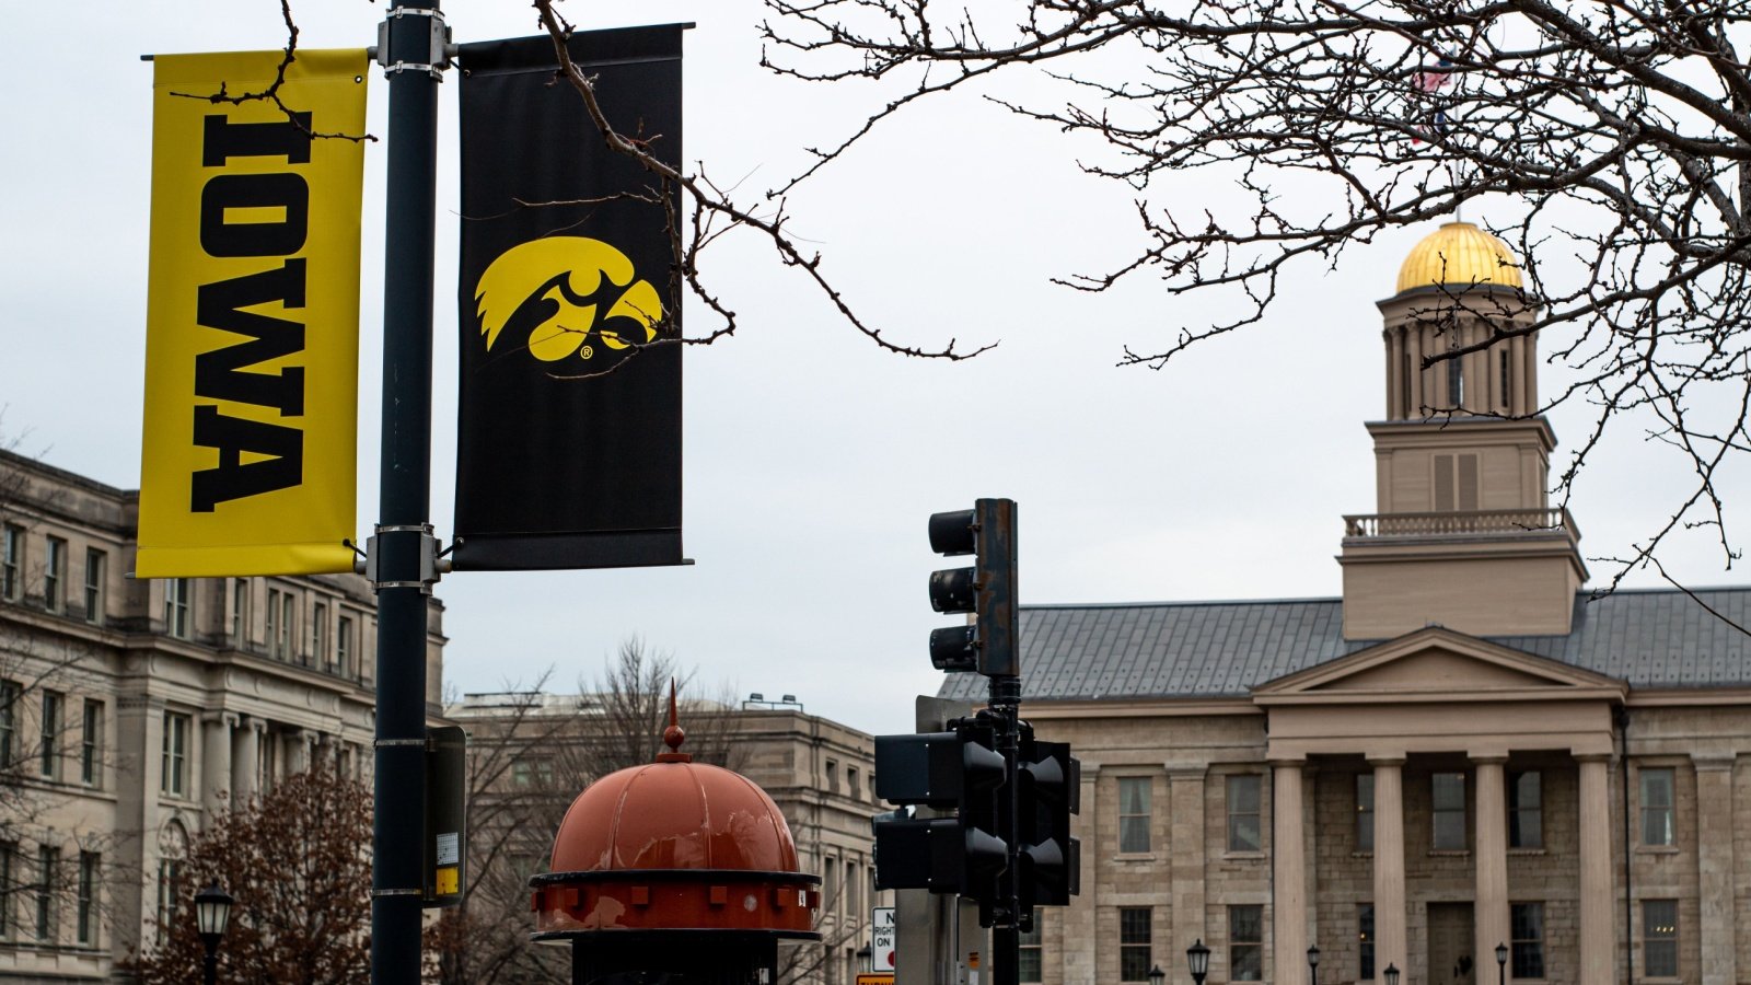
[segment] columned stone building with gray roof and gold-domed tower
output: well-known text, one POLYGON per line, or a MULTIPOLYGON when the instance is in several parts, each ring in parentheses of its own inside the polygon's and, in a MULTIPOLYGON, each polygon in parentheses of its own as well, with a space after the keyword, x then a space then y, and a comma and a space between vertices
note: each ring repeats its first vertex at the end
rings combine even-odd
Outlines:
POLYGON ((1212 985, 1751 981, 1751 589, 1590 599, 1537 337, 1492 335, 1520 287, 1450 223, 1380 301, 1341 598, 1023 610, 1023 713, 1082 761, 1024 980, 1187 981, 1203 941, 1212 985))

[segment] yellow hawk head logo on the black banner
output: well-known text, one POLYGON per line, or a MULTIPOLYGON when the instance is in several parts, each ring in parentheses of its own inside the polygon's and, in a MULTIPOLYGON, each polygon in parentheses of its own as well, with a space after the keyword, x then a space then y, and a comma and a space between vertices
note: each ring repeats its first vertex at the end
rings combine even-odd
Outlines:
POLYGON ((662 298, 637 279, 627 254, 587 237, 546 237, 504 251, 480 275, 475 303, 487 351, 511 328, 513 340, 543 363, 573 354, 590 359, 595 344, 620 351, 651 342, 662 321, 662 298))

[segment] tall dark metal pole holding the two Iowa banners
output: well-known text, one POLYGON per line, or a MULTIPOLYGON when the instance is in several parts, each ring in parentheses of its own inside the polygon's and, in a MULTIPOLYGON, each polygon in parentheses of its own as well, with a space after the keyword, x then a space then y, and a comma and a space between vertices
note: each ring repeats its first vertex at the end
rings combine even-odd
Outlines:
POLYGON ((418 985, 425 811, 425 599, 431 528, 432 228, 438 82, 448 32, 438 0, 396 0, 378 28, 389 75, 383 244, 383 431, 376 535, 376 743, 371 820, 371 983, 418 985))

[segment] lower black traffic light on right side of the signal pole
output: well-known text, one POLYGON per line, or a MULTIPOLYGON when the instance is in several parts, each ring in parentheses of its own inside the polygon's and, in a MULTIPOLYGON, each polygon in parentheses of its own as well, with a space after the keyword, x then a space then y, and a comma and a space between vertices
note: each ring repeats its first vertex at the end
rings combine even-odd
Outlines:
POLYGON ((1070 906, 1082 885, 1082 843, 1070 836, 1070 815, 1082 806, 1082 764, 1070 743, 1035 740, 1023 724, 1016 783, 1016 896, 1031 920, 1035 906, 1070 906))

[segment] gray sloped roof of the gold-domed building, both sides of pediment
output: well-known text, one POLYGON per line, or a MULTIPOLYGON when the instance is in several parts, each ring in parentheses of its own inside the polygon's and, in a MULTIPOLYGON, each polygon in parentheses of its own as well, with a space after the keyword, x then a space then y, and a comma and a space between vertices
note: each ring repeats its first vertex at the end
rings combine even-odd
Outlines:
MULTIPOLYGON (((1614 677, 1630 687, 1751 685, 1751 587, 1620 589, 1574 599, 1567 636, 1492 643, 1614 677), (1725 620, 1723 620, 1725 619, 1725 620)), ((1266 599, 1030 605, 1021 610, 1023 698, 1224 698, 1380 640, 1343 638, 1343 601, 1266 599)), ((986 678, 949 675, 942 698, 981 701, 986 678)))

